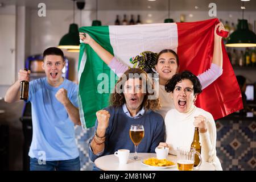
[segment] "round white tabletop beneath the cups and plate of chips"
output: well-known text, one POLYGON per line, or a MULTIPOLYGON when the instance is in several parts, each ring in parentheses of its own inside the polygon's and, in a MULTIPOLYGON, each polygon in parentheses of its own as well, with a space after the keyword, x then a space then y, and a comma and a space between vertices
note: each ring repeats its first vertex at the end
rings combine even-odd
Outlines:
MULTIPOLYGON (((129 158, 131 158, 134 153, 131 153, 129 158)), ((104 171, 177 171, 177 165, 170 168, 155 168, 144 166, 141 162, 143 159, 156 158, 155 153, 138 153, 139 158, 142 160, 128 160, 127 164, 119 164, 119 159, 115 155, 105 155, 94 161, 96 167, 104 171)), ((176 163, 175 155, 168 155, 168 160, 176 163)), ((214 171, 215 167, 213 164, 208 162, 203 162, 199 168, 199 171, 214 171)))

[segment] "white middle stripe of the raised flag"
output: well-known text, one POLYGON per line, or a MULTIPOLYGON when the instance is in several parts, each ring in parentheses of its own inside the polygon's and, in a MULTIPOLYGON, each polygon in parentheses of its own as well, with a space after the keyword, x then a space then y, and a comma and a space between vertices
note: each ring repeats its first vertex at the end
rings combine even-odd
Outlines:
POLYGON ((140 24, 134 26, 109 26, 110 44, 114 56, 133 66, 130 58, 143 51, 160 52, 173 49, 177 52, 178 36, 176 23, 140 24))

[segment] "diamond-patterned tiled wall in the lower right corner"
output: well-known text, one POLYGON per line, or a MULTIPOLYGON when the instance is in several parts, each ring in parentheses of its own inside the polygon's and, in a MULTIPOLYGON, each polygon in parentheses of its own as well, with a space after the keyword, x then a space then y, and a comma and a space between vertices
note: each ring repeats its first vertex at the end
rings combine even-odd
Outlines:
POLYGON ((223 170, 255 170, 256 119, 219 120, 217 127, 217 156, 223 170))

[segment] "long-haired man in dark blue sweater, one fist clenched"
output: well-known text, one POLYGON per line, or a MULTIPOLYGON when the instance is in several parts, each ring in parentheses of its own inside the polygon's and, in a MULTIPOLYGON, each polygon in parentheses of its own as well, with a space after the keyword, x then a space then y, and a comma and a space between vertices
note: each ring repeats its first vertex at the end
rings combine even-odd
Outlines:
POLYGON ((152 111, 160 108, 152 87, 147 73, 139 68, 128 69, 119 78, 110 96, 110 106, 96 113, 96 133, 89 142, 89 157, 93 162, 119 149, 134 152, 134 143, 129 137, 131 125, 144 126, 138 152, 153 153, 164 141, 163 117, 152 111))

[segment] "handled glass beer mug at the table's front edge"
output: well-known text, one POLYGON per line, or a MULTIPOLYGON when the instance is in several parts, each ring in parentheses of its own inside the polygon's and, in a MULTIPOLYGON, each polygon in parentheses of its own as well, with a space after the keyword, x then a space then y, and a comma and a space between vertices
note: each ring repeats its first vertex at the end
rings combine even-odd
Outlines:
POLYGON ((177 148, 177 169, 180 171, 192 171, 199 169, 202 163, 202 158, 196 148, 177 148), (190 149, 190 150, 189 150, 190 149), (194 167, 195 154, 199 156, 199 164, 194 167))

